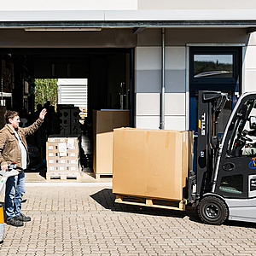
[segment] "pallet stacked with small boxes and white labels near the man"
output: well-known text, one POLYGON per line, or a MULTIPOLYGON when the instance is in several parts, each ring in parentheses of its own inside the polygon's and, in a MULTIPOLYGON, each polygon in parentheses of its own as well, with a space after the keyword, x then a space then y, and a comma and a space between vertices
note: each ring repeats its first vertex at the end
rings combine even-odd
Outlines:
POLYGON ((82 173, 79 158, 79 148, 79 136, 49 136, 46 143, 46 178, 73 178, 79 180, 82 173))

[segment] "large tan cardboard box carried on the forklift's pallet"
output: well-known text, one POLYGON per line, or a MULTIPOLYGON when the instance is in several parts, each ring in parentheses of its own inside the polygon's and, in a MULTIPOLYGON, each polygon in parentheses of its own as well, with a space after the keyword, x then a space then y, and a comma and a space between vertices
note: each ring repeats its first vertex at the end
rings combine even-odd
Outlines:
POLYGON ((191 131, 113 131, 113 193, 182 201, 192 168, 191 131))

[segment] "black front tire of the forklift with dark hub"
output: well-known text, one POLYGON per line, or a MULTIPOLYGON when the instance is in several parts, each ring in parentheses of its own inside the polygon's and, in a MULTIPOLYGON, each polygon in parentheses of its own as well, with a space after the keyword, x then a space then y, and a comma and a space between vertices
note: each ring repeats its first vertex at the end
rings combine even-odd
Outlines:
POLYGON ((196 210, 199 218, 205 224, 223 224, 229 215, 229 209, 224 201, 216 196, 202 198, 196 210))

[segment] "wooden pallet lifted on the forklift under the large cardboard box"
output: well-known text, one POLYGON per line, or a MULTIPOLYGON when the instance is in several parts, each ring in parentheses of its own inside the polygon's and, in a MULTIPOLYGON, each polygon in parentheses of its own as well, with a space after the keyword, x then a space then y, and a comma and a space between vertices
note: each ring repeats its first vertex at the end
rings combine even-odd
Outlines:
POLYGON ((141 207, 157 207, 165 208, 177 211, 185 211, 187 201, 169 201, 169 200, 160 200, 146 197, 137 197, 131 195, 116 195, 116 203, 136 205, 141 207))

